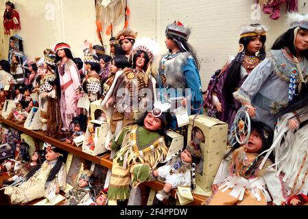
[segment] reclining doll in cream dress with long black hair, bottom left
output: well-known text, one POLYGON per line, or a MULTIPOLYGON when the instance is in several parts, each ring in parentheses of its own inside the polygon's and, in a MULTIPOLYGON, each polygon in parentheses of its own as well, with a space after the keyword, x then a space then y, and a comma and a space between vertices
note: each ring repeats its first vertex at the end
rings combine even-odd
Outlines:
POLYGON ((25 175, 19 186, 5 188, 4 194, 10 196, 14 205, 26 204, 36 198, 54 201, 56 194, 66 188, 67 171, 63 151, 45 143, 47 153, 43 164, 38 164, 25 175))

